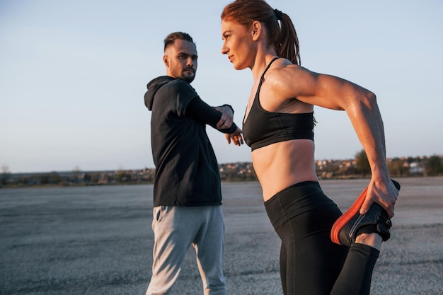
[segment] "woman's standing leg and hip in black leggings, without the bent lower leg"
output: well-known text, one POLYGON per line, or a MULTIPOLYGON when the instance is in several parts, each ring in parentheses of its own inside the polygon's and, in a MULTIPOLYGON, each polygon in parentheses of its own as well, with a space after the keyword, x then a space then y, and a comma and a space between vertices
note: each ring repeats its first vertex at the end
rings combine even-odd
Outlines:
POLYGON ((329 295, 348 249, 330 241, 330 229, 341 215, 340 209, 317 183, 288 187, 265 207, 282 240, 283 293, 329 295))

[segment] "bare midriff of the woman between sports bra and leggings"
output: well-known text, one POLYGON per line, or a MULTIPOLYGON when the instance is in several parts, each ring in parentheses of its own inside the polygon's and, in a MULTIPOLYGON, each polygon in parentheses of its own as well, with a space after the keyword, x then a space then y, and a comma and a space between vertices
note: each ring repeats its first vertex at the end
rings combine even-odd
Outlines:
POLYGON ((252 161, 266 202, 277 192, 302 181, 318 181, 314 143, 309 139, 277 142, 255 149, 252 161))

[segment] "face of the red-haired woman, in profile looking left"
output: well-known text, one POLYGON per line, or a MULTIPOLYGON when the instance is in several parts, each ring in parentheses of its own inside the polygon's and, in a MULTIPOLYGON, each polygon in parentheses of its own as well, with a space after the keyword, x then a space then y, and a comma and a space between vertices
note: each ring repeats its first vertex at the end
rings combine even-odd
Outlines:
POLYGON ((253 66, 255 44, 252 32, 233 21, 222 21, 222 54, 226 54, 234 69, 246 69, 253 66))

